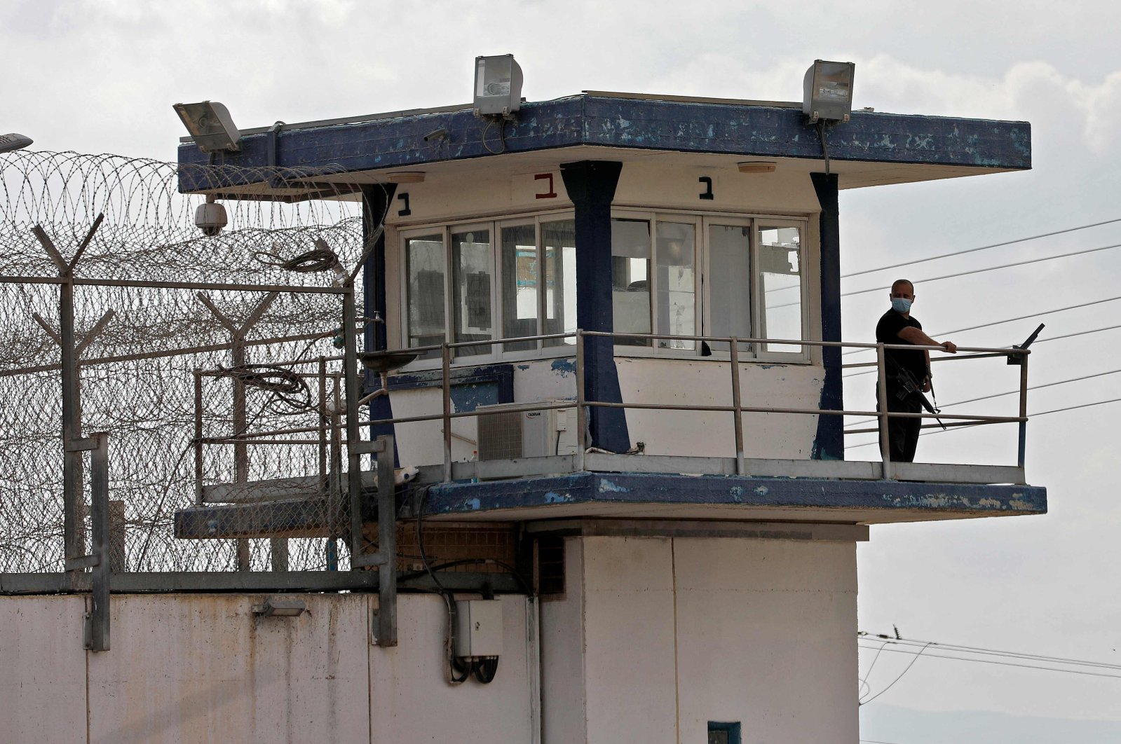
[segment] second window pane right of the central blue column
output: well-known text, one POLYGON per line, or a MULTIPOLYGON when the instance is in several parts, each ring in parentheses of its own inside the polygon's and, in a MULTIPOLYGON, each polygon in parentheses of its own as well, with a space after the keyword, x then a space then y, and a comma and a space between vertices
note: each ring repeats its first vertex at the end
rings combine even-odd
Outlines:
MULTIPOLYGON (((658 333, 676 336, 696 334, 696 227, 692 224, 658 222, 658 247, 655 251, 658 280, 658 333)), ((693 341, 664 338, 661 348, 694 348, 693 341)))

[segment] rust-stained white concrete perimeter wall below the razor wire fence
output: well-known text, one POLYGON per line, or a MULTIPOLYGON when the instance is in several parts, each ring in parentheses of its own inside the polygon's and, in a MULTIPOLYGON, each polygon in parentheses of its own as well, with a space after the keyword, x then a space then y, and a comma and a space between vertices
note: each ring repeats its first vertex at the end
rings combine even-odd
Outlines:
POLYGON ((536 662, 524 597, 503 598, 490 685, 450 687, 439 597, 405 595, 396 649, 370 645, 369 595, 112 598, 112 650, 82 649, 80 596, 0 597, 0 742, 531 742, 536 662))

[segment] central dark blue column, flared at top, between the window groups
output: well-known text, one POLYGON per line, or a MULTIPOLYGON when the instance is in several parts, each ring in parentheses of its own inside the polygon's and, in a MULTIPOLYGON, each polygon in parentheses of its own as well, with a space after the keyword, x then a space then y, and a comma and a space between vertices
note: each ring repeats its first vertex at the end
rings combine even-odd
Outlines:
MULTIPOLYGON (((623 164, 582 160, 560 166, 565 189, 576 210, 576 325, 584 331, 614 329, 611 310, 611 202, 623 164)), ((587 338, 584 345, 584 396, 587 400, 622 402, 611 338, 587 338)), ((609 452, 630 449, 627 417, 621 408, 592 408, 592 446, 609 452)))

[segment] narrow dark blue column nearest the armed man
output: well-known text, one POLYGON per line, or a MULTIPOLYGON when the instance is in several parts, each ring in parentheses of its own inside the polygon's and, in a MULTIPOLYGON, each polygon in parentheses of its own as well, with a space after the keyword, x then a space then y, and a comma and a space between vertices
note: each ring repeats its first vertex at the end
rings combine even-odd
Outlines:
MULTIPOLYGON (((836 174, 812 173, 817 202, 822 206, 822 341, 841 341, 841 223, 837 213, 836 174)), ((873 323, 874 320, 869 320, 873 323)), ((841 348, 822 348, 825 381, 818 408, 842 410, 844 387, 841 379, 841 348)), ((819 416, 814 437, 813 457, 844 459, 844 420, 840 416, 819 416)))

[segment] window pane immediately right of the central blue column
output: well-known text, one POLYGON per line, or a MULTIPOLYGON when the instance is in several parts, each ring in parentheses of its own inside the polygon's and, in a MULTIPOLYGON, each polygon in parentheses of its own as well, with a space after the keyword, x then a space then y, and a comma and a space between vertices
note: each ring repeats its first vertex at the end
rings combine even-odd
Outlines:
MULTIPOLYGON (((615 333, 650 333, 650 223, 611 221, 611 301, 615 333)), ((648 338, 615 338, 649 346, 648 338)))

